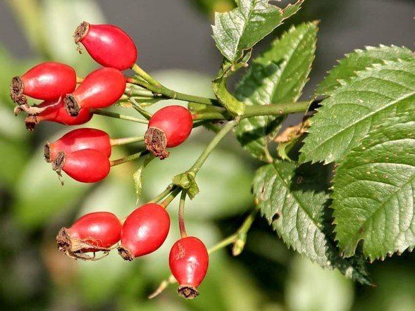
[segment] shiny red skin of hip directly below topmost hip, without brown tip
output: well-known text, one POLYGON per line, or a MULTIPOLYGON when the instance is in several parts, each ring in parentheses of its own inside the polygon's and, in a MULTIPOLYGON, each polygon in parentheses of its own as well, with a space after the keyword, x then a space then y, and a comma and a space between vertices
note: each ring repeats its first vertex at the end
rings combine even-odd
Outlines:
POLYGON ((105 108, 125 91, 125 77, 116 68, 99 68, 85 77, 72 95, 80 108, 105 108))

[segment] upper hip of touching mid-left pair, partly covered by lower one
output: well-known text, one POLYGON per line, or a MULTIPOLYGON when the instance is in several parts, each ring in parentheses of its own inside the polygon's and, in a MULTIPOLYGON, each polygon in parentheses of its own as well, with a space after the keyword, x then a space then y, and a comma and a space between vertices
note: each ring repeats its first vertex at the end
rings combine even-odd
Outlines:
POLYGON ((72 153, 83 149, 95 149, 101 151, 101 153, 106 155, 106 158, 111 156, 109 134, 101 131, 101 129, 74 129, 63 135, 63 137, 57 141, 47 143, 47 146, 49 148, 50 161, 55 160, 59 151, 72 153))

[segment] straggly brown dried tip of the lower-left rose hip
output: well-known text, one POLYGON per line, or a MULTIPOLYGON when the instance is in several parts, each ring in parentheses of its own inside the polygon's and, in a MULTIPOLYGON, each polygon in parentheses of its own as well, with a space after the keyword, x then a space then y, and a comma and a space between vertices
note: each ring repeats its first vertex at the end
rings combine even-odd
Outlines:
POLYGON ((58 249, 61 250, 62 253, 73 259, 100 260, 108 255, 111 250, 111 248, 94 246, 91 243, 72 238, 68 232, 68 228, 59 230, 58 235, 56 236, 56 243, 58 244, 58 249), (88 252, 91 252, 91 249, 95 251, 92 254, 87 254, 88 252), (101 257, 96 257, 96 251, 103 252, 103 255, 101 257))

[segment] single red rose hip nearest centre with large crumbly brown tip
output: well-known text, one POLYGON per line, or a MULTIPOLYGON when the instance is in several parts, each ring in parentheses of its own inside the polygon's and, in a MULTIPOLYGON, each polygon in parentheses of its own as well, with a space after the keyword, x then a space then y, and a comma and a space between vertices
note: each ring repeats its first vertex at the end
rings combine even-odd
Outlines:
POLYGON ((156 111, 149 120, 149 128, 144 135, 147 150, 161 160, 168 157, 166 147, 182 144, 192 132, 193 118, 189 110, 182 106, 167 106, 156 111))

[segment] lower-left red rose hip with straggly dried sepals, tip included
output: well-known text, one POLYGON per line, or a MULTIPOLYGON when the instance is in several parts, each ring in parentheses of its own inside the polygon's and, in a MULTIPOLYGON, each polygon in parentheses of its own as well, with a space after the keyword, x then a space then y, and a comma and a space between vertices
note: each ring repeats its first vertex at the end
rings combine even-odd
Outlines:
POLYGON ((70 228, 62 228, 56 236, 58 248, 70 258, 95 260, 86 253, 104 252, 120 241, 120 220, 111 212, 91 212, 76 220, 70 228))

